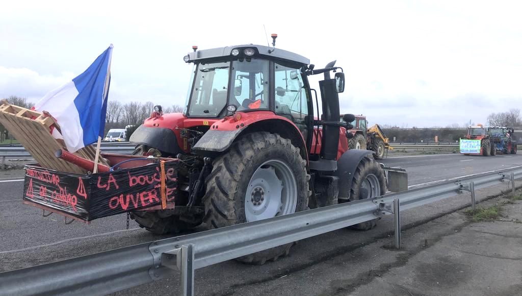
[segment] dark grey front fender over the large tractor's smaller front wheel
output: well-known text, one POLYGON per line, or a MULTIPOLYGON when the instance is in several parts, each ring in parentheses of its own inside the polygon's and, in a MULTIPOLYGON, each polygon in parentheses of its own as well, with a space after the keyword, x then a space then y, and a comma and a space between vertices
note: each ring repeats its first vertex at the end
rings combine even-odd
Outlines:
POLYGON ((332 175, 339 177, 339 198, 348 199, 352 187, 353 174, 361 160, 374 152, 370 150, 352 149, 343 153, 337 160, 337 170, 332 175))

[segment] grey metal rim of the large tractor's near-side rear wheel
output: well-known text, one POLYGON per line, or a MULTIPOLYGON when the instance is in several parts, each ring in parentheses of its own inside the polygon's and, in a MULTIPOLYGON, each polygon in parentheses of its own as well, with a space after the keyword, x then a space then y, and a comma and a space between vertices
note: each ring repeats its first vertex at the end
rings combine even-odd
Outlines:
POLYGON ((278 160, 260 165, 246 189, 247 222, 263 220, 295 212, 298 189, 290 167, 278 160))

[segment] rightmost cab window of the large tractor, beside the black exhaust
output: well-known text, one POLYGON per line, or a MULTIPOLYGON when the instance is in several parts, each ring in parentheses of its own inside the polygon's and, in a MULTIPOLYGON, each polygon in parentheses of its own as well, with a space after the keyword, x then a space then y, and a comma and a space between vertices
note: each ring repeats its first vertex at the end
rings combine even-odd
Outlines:
POLYGON ((306 89, 299 69, 275 64, 276 113, 293 122, 305 124, 308 115, 306 89))

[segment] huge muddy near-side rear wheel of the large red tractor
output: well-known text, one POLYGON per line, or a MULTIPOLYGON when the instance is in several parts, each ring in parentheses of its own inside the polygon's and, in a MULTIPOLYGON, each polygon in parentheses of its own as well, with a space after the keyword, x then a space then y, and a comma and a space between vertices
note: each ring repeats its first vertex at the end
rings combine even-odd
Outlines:
MULTIPOLYGON (((304 211, 309 191, 306 162, 290 140, 250 133, 216 158, 206 180, 205 225, 215 229, 304 211)), ((262 265, 287 255, 286 244, 236 260, 262 265)))

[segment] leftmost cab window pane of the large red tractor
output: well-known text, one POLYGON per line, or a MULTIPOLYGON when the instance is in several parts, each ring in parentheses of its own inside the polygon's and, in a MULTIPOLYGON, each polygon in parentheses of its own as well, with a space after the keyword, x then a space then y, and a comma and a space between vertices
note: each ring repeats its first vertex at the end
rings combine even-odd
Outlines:
POLYGON ((229 71, 230 62, 197 66, 187 115, 218 117, 227 106, 229 71))

